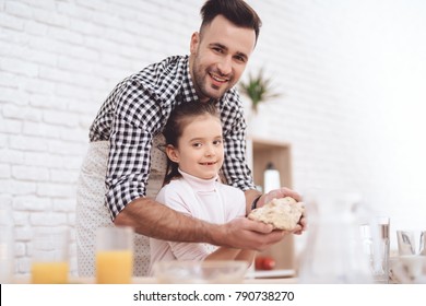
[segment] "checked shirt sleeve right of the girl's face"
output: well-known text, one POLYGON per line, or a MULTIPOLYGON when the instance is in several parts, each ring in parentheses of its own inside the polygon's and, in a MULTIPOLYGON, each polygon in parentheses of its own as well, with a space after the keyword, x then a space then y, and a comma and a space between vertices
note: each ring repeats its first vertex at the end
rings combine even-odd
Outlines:
POLYGON ((227 184, 241 190, 256 189, 246 161, 246 120, 242 104, 235 89, 223 97, 220 105, 225 138, 225 161, 222 173, 227 184))

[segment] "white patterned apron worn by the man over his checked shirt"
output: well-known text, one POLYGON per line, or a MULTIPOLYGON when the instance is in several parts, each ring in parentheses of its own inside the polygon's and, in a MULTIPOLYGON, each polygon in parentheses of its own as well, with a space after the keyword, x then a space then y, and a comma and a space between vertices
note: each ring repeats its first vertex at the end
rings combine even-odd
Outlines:
MULTIPOLYGON (((146 196, 156 197, 166 170, 166 155, 158 150, 164 138, 158 134, 153 140, 151 151, 151 173, 146 196)), ((75 242, 79 276, 95 275, 95 234, 96 228, 114 226, 105 205, 105 176, 109 153, 108 141, 91 142, 83 161, 76 187, 75 242)), ((147 275, 150 267, 150 239, 135 234, 134 276, 147 275)))

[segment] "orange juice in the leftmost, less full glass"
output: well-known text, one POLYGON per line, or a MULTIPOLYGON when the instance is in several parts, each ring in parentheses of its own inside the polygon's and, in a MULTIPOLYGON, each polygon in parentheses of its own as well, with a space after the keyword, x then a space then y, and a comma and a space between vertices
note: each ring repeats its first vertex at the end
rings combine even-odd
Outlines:
POLYGON ((33 284, 66 284, 68 283, 68 262, 33 262, 33 284))

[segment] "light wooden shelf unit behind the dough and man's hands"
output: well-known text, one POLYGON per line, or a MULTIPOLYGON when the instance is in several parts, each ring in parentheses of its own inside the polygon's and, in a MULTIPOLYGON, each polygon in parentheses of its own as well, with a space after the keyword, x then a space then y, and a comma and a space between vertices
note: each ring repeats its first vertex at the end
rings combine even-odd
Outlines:
MULTIPOLYGON (((292 188, 291 145, 285 142, 250 138, 247 140, 247 158, 251 166, 255 184, 263 188, 263 172, 269 163, 280 172, 281 186, 292 188)), ((259 256, 275 259, 275 269, 295 269, 294 237, 287 235, 259 256)))

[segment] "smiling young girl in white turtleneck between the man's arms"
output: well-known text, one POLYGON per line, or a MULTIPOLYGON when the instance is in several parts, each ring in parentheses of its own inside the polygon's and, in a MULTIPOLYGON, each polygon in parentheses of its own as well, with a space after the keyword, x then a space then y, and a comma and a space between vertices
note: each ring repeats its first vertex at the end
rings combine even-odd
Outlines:
MULTIPOLYGON (((175 108, 163 131, 167 170, 156 200, 210 223, 246 215, 241 190, 218 180, 224 162, 222 125, 214 104, 190 102, 175 108)), ((151 238, 152 267, 159 260, 246 260, 255 251, 209 244, 174 243, 151 238)))

